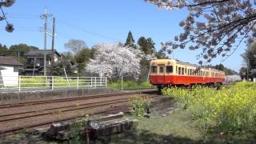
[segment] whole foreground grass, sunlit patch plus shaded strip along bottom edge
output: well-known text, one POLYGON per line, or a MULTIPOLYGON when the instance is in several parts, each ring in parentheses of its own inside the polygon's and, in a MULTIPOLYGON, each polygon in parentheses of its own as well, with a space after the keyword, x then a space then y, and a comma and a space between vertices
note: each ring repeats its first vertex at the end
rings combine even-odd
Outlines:
POLYGON ((166 117, 141 118, 134 130, 113 135, 111 143, 254 143, 254 134, 204 134, 188 111, 178 110, 166 117))

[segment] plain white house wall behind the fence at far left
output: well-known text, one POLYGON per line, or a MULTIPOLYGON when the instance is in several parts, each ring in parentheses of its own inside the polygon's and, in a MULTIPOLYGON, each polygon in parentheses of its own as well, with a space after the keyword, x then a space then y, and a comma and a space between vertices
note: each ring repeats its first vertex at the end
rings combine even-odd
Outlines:
POLYGON ((18 86, 18 72, 14 72, 14 66, 1 66, 2 81, 4 86, 18 86))

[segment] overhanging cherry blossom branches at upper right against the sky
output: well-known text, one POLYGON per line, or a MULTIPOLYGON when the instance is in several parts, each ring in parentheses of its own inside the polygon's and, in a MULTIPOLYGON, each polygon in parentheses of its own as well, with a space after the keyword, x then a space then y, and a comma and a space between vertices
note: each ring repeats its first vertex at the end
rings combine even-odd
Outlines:
POLYGON ((199 64, 218 55, 226 60, 242 42, 256 36, 255 1, 250 0, 145 0, 167 10, 187 9, 189 14, 179 23, 183 32, 174 41, 162 42, 162 49, 189 47, 202 50, 199 64))

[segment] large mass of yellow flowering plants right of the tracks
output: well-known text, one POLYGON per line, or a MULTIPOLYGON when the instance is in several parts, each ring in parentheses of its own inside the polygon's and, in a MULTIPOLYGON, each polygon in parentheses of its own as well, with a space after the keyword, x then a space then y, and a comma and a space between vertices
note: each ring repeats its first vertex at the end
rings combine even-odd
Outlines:
POLYGON ((162 94, 175 98, 178 106, 186 107, 205 132, 210 127, 226 134, 256 132, 256 89, 253 82, 238 82, 221 90, 200 86, 192 89, 174 87, 162 90, 162 94))

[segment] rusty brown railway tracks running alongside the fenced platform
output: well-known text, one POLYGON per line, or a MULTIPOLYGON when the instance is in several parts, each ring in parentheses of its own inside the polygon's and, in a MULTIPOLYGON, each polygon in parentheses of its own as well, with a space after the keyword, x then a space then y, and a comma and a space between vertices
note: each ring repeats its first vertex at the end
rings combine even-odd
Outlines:
POLYGON ((0 130, 2 134, 13 134, 24 128, 34 128, 38 126, 50 126, 53 122, 62 122, 68 121, 70 119, 84 117, 86 114, 104 114, 110 113, 111 111, 123 111, 128 112, 127 102, 132 94, 140 94, 140 96, 150 96, 151 98, 158 98, 159 95, 150 95, 155 90, 143 90, 136 92, 126 92, 121 94, 106 94, 106 95, 97 95, 97 96, 87 96, 87 97, 78 97, 78 98, 62 98, 62 99, 53 99, 53 100, 43 100, 37 102, 20 102, 14 104, 0 105, 0 110, 2 109, 11 109, 27 107, 27 106, 38 106, 44 104, 53 104, 58 105, 61 102, 71 102, 71 101, 86 101, 91 99, 101 99, 101 98, 115 98, 110 100, 102 100, 97 102, 87 102, 79 105, 69 105, 69 106, 58 106, 54 108, 46 108, 44 110, 27 110, 23 112, 14 112, 12 114, 1 114, 0 115, 0 130), (122 98, 122 97, 124 98, 122 98), (74 114, 79 113, 79 114, 74 114), (54 114, 62 114, 64 116, 60 118, 52 118, 54 114), (18 125, 17 125, 18 123, 18 125), (14 125, 14 126, 12 126, 14 125))

